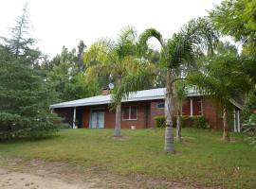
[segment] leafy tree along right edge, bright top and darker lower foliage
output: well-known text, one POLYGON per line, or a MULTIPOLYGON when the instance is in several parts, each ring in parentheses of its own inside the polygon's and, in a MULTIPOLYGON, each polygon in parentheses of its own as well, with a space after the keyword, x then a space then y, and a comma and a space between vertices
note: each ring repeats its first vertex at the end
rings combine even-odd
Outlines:
POLYGON ((224 35, 243 44, 241 71, 256 83, 256 2, 254 0, 224 0, 210 11, 210 20, 224 35))

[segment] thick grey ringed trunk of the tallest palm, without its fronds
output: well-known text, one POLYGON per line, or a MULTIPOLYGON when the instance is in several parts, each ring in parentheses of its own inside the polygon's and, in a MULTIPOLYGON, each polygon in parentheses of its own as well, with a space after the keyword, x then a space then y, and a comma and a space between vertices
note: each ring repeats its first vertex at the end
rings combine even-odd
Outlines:
POLYGON ((167 70, 166 77, 166 96, 165 96, 165 118, 166 118, 166 129, 165 129, 165 145, 164 151, 168 153, 174 153, 174 92, 172 86, 171 70, 167 70))

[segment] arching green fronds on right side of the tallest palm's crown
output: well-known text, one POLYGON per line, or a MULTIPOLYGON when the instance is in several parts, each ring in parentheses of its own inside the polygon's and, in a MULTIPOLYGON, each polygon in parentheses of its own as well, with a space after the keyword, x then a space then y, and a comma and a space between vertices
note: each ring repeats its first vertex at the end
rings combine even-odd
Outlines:
POLYGON ((218 37, 218 32, 207 19, 193 19, 168 40, 165 49, 166 66, 173 70, 182 65, 186 65, 184 68, 187 70, 194 68, 197 55, 204 51, 213 53, 218 37))

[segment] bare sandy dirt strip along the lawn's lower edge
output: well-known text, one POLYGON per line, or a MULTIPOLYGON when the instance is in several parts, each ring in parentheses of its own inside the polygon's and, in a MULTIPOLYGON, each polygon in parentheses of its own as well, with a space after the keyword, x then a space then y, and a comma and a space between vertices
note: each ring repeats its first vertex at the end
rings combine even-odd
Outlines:
MULTIPOLYGON (((201 189, 189 183, 124 177, 71 163, 4 160, 0 157, 0 189, 201 189)), ((210 187, 218 188, 218 187, 210 187)))

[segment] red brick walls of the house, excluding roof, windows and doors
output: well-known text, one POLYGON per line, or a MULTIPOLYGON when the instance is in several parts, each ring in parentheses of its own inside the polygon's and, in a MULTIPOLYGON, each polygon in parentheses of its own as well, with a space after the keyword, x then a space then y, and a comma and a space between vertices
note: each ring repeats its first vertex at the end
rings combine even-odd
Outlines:
MULTIPOLYGON (((136 126, 137 129, 154 128, 155 116, 164 116, 164 109, 157 108, 158 103, 163 103, 164 100, 140 101, 131 103, 122 103, 122 106, 137 106, 137 120, 121 120, 121 128, 130 129, 131 126, 136 126)), ((201 115, 200 98, 193 98, 193 114, 201 115)), ((115 128, 116 113, 110 112, 108 105, 83 107, 82 112, 82 128, 89 128, 91 109, 104 109, 104 126, 106 129, 115 128)), ((64 115, 72 109, 57 109, 54 110, 60 115, 64 115)), ((184 100, 183 115, 191 115, 190 98, 184 100)), ((212 129, 222 129, 222 118, 217 114, 214 102, 209 98, 203 98, 203 114, 210 122, 212 129)))

